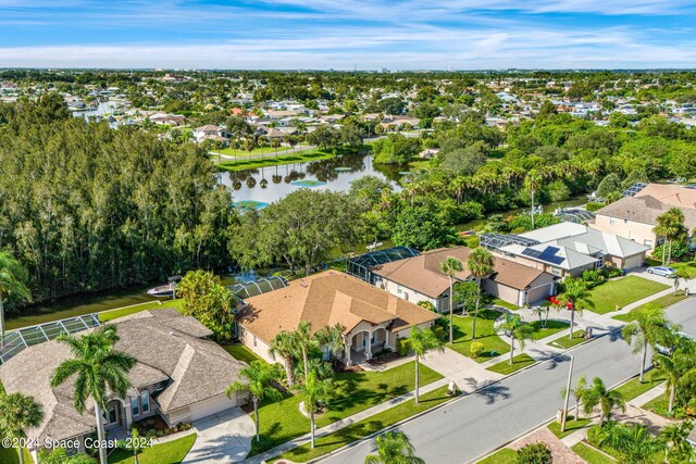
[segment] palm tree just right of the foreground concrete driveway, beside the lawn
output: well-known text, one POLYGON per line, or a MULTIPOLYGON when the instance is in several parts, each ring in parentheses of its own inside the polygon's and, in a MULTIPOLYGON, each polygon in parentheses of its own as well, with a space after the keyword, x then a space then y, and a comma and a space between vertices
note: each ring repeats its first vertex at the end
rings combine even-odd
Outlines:
POLYGON ((257 443, 259 442, 259 403, 266 398, 271 401, 279 401, 283 393, 276 385, 283 377, 281 366, 277 364, 264 364, 261 361, 251 361, 248 367, 239 371, 239 376, 245 383, 235 381, 227 387, 227 397, 237 391, 249 390, 251 404, 253 404, 253 422, 257 427, 257 443))

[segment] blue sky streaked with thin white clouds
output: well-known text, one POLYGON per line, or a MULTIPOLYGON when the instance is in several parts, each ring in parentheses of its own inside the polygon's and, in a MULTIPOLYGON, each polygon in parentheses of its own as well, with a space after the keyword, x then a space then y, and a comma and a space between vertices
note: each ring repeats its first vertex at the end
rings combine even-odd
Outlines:
POLYGON ((0 0, 0 66, 696 67, 682 0, 0 0))

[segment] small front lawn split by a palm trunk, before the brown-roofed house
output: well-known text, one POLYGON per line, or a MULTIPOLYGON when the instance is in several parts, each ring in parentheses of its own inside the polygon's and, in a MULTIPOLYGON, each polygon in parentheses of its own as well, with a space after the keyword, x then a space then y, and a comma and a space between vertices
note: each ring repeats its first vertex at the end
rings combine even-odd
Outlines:
MULTIPOLYGON (((474 341, 478 341, 485 347, 483 354, 476 359, 480 363, 510 351, 510 346, 498 337, 493 329, 493 323, 500 316, 501 314, 498 311, 478 311, 478 317, 476 319, 476 339, 474 341)), ((455 342, 451 346, 448 344, 452 350, 469 358, 471 358, 470 349, 472 342, 472 324, 473 316, 455 316, 455 342)))

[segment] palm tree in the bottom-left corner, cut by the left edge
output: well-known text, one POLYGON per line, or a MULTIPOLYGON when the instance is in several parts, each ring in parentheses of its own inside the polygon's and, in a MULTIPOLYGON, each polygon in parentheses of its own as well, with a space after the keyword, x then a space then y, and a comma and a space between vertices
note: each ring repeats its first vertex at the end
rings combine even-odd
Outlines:
MULTIPOLYGON (((44 409, 34 397, 10 393, 0 397, 0 432, 13 440, 26 439, 26 430, 41 425, 44 409)), ((18 448, 20 464, 24 464, 24 448, 18 448)))

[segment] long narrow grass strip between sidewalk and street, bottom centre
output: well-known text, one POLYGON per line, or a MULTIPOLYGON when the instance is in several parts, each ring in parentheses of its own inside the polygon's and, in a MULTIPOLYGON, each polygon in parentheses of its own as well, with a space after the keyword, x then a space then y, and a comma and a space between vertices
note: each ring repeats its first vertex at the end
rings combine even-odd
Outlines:
MULTIPOLYGON (((303 444, 279 455, 277 460, 307 462, 309 460, 316 459, 345 447, 348 443, 382 430, 385 427, 401 422, 412 415, 435 407, 447 400, 449 400, 449 397, 447 396, 447 387, 440 387, 430 393, 423 394, 418 404, 415 404, 413 400, 407 401, 406 403, 401 403, 369 418, 349 425, 334 434, 316 439, 316 447, 313 450, 310 448, 309 443, 303 444)), ((415 450, 415 455, 418 455, 418 450, 415 450)))

